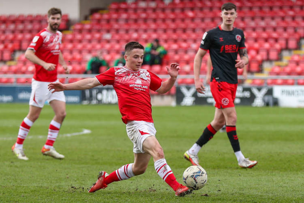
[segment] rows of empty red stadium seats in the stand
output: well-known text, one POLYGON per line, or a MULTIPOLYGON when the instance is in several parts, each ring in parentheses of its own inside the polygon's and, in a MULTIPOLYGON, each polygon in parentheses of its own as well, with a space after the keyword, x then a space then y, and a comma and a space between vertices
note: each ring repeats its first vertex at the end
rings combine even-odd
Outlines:
MULTIPOLYGON (((236 1, 238 18, 235 26, 244 30, 250 58, 248 72, 262 72, 264 60, 280 60, 283 49, 299 48, 304 37, 303 1, 236 1)), ((106 61, 120 55, 124 44, 131 40, 142 44, 159 38, 168 50, 164 64, 177 61, 181 64, 180 74, 193 74, 194 55, 200 45, 202 34, 221 23, 218 15, 222 1, 178 0, 168 5, 162 0, 111 3, 109 12, 96 12, 89 21, 74 24, 63 35, 62 50, 66 61, 72 66, 71 73, 83 73, 86 62, 97 50, 107 53, 106 61)), ((26 50, 33 35, 47 25, 46 15, 0 15, 0 60, 14 59, 18 50, 26 50)), ((61 30, 68 29, 68 15, 62 16, 61 30)), ((206 73, 203 60, 201 73, 206 73)), ((166 74, 162 65, 143 66, 156 74, 166 74)), ((1 74, 28 74, 33 70, 24 55, 17 59, 16 66, 2 66, 1 74)), ((64 73, 63 69, 58 69, 64 73)), ((242 69, 238 69, 242 74, 242 69)), ((274 66, 270 75, 304 75, 304 58, 292 55, 288 65, 274 66)), ((10 80, 5 80, 10 81, 10 80)), ((22 82, 18 80, 17 82, 22 82)), ((292 84, 295 81, 267 80, 267 84, 292 84)), ((179 84, 193 84, 190 80, 179 80, 179 84)), ((253 80, 253 85, 264 83, 253 80)), ((298 84, 302 81, 299 80, 298 84)))

